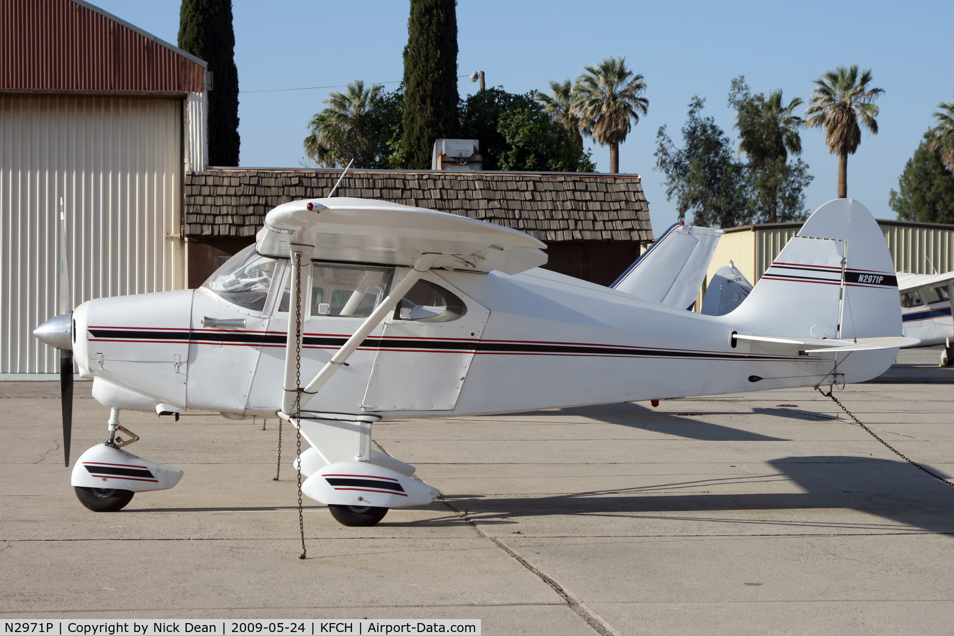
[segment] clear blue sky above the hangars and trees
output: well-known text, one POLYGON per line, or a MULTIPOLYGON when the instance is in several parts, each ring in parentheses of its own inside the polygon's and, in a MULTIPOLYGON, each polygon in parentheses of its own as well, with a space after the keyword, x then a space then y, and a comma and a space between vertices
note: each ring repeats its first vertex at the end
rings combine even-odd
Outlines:
MULTIPOLYGON (((98 0, 137 27, 176 44, 179 3, 98 0)), ((246 92, 400 80, 408 5, 376 2, 234 2, 242 166, 296 167, 312 114, 324 89, 246 92)), ((848 158, 848 195, 881 218, 904 162, 932 124, 940 101, 954 99, 950 53, 952 2, 508 2, 460 0, 460 74, 480 69, 487 86, 509 92, 545 89, 550 78, 575 77, 606 55, 626 55, 645 76, 649 114, 620 147, 620 171, 639 173, 650 201, 653 230, 676 220, 655 171, 660 126, 679 143, 693 95, 732 136, 726 95, 743 74, 754 92, 781 88, 787 99, 809 97, 812 79, 838 65, 870 67, 881 132, 865 134, 848 158)), ((393 88, 396 84, 388 84, 393 88)), ((462 95, 476 84, 461 79, 462 95)), ((807 190, 814 210, 837 195, 838 160, 819 131, 801 133, 802 159, 815 180, 807 190)), ((598 170, 609 170, 608 148, 591 144, 598 170)))

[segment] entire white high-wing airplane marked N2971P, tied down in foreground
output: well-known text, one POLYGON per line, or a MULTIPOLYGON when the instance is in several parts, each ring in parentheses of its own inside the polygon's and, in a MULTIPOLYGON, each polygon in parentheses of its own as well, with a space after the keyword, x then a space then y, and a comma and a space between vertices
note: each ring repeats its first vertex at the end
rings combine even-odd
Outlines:
POLYGON ((901 336, 878 224, 851 199, 821 206, 725 316, 685 311, 698 285, 680 296, 647 282, 645 299, 540 269, 543 247, 384 201, 292 201, 197 290, 64 311, 34 333, 61 350, 67 465, 73 359, 111 408, 108 440, 73 466, 77 497, 114 511, 182 476, 120 447, 130 440, 116 433, 132 435, 123 409, 278 415, 310 445, 295 462, 304 494, 345 525, 371 525, 439 494, 372 448, 383 418, 860 382, 918 342, 901 336))

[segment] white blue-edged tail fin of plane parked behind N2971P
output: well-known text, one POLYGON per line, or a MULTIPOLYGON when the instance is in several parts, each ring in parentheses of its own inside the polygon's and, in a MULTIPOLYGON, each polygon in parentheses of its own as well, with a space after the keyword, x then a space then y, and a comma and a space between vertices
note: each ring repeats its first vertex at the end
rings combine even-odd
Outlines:
POLYGON ((675 223, 611 287, 670 307, 691 307, 721 235, 722 230, 675 223))

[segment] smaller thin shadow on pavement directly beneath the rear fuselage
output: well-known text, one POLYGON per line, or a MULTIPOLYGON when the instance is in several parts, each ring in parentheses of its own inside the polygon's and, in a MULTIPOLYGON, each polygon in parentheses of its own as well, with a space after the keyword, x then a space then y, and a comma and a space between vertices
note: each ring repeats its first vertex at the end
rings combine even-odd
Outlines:
MULTIPOLYGON (((772 411, 771 415, 782 415, 784 409, 763 409, 772 411)), ((522 415, 552 416, 554 413, 560 416, 572 416, 587 418, 589 420, 602 421, 608 424, 619 424, 621 426, 632 426, 633 428, 642 428, 653 433, 664 433, 666 435, 676 435, 689 440, 703 441, 787 441, 784 438, 775 438, 769 435, 761 435, 751 431, 744 431, 731 426, 723 426, 708 421, 695 420, 697 416, 709 415, 752 415, 749 411, 687 411, 692 413, 690 416, 677 416, 671 413, 660 413, 652 411, 645 406, 624 402, 622 404, 601 404, 598 406, 572 406, 569 408, 552 409, 548 411, 534 411, 522 415)), ((783 417, 791 417, 783 415, 783 417)), ((805 416, 801 416, 805 417, 805 416)), ((807 418, 812 419, 813 418, 807 418)))

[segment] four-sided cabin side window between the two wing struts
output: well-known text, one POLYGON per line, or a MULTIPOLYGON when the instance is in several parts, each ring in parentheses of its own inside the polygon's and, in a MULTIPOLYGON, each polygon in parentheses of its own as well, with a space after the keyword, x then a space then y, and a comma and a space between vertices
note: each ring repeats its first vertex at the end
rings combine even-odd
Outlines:
POLYGON ((367 318, 384 299, 393 270, 313 263, 311 315, 367 318))

